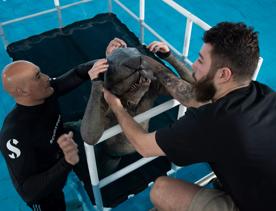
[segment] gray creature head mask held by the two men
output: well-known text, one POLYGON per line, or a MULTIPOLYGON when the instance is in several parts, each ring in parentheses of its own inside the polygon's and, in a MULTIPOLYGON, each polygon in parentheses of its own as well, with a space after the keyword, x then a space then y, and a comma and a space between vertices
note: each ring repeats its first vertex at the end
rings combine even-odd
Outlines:
POLYGON ((107 61, 109 68, 104 74, 104 86, 122 102, 137 105, 154 79, 151 71, 143 69, 142 54, 136 48, 118 48, 107 61))

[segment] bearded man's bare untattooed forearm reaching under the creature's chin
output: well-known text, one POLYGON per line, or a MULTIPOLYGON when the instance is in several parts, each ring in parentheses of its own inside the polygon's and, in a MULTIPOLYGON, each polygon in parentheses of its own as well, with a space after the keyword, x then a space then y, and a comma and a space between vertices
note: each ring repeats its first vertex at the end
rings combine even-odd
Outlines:
POLYGON ((104 89, 104 98, 116 115, 122 130, 130 143, 143 157, 164 156, 165 153, 157 145, 155 132, 146 132, 125 111, 119 98, 104 89))

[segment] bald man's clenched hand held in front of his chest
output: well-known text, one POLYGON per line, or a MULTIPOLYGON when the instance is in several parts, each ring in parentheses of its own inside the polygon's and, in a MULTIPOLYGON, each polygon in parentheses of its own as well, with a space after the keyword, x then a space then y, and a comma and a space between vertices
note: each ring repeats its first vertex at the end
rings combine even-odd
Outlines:
POLYGON ((73 140, 73 132, 61 135, 57 143, 61 148, 65 161, 71 165, 76 165, 79 162, 78 145, 73 140))

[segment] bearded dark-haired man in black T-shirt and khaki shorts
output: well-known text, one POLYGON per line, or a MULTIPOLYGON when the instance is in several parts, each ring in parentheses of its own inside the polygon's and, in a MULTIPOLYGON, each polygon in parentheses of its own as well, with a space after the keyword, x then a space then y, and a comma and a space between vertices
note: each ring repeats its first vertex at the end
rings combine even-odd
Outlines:
MULTIPOLYGON (((177 99, 188 107, 173 125, 148 133, 108 90, 105 100, 142 156, 167 156, 178 165, 208 162, 222 183, 222 190, 210 190, 160 177, 151 190, 157 210, 276 210, 276 94, 251 80, 259 59, 257 33, 243 23, 222 22, 203 41, 192 66, 195 83, 178 84, 164 69, 151 69, 168 90, 176 87, 177 99), (202 101, 209 103, 200 106, 202 101)), ((169 52, 159 42, 149 49, 169 52)))

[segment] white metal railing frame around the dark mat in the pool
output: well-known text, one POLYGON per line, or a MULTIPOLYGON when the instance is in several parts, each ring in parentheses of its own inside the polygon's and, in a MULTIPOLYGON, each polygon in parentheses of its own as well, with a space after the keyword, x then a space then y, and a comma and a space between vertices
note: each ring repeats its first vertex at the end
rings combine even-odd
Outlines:
MULTIPOLYGON (((4 46, 7 47, 8 45, 8 40, 5 36, 5 32, 4 32, 4 26, 12 24, 12 23, 16 23, 19 21, 23 21, 26 19, 30 19, 33 17, 37 17, 37 16, 41 16, 44 14, 48 14, 48 13, 52 13, 52 12, 57 12, 57 17, 58 17, 58 23, 59 23, 59 27, 62 27, 62 10, 65 8, 69 8, 72 6, 76 6, 82 3, 88 3, 91 2, 92 0, 80 0, 79 2, 75 2, 75 3, 71 3, 71 4, 67 4, 64 6, 60 6, 60 2, 59 0, 54 0, 54 5, 55 8, 53 9, 49 9, 49 10, 45 10, 45 11, 41 11, 32 15, 27 15, 27 16, 23 16, 20 18, 16 18, 13 20, 9 20, 9 21, 5 21, 0 23, 0 36, 2 38, 2 41, 4 43, 4 46)), ((125 10, 131 17, 133 17, 139 24, 140 24, 140 41, 142 43, 144 43, 144 30, 147 29, 149 32, 151 32, 157 39, 166 42, 168 44, 168 46, 170 47, 170 49, 177 54, 178 56, 182 57, 183 60, 191 65, 192 62, 188 59, 189 56, 189 47, 190 47, 190 39, 191 39, 191 33, 192 33, 192 26, 193 24, 198 25, 200 28, 202 28, 203 30, 208 30, 210 28, 210 26, 205 23, 203 20, 201 20, 200 18, 198 18, 197 16, 193 15, 192 13, 190 13, 188 10, 184 9, 182 6, 180 6, 179 4, 177 4, 176 2, 174 2, 173 0, 162 0, 164 3, 166 3, 168 6, 172 7, 173 9, 175 9, 177 12, 179 12, 180 14, 182 14, 183 16, 185 16, 187 18, 186 20, 186 28, 185 28, 185 34, 184 34, 184 44, 183 44, 183 50, 182 52, 179 52, 176 48, 174 48, 174 46, 172 44, 170 44, 170 42, 168 40, 166 40, 165 38, 163 38, 161 35, 158 34, 158 32, 156 32, 153 28, 151 28, 149 25, 147 25, 144 20, 145 20, 145 0, 139 0, 140 1, 140 9, 139 9, 139 17, 136 16, 136 14, 134 14, 131 10, 129 10, 122 2, 120 2, 120 0, 108 0, 108 11, 112 12, 112 3, 115 2, 118 6, 120 6, 120 8, 122 8, 123 10, 125 10)), ((253 76, 253 79, 255 80, 258 72, 260 70, 260 67, 262 65, 263 59, 260 57, 259 59, 259 63, 258 63, 258 67, 256 69, 256 72, 253 76)), ((142 114, 137 115, 136 117, 134 117, 134 119, 138 122, 141 123, 145 120, 148 120, 164 111, 167 111, 175 106, 178 106, 179 102, 176 100, 169 100, 161 105, 158 105, 157 107, 154 107, 142 114)), ((183 116, 185 114, 186 108, 182 105, 179 106, 179 111, 178 111, 178 118, 180 118, 181 116, 183 116)), ((108 138, 121 133, 122 130, 120 128, 119 125, 116 125, 114 127, 111 127, 109 129, 107 129, 106 131, 104 131, 102 137, 100 138, 100 142, 103 142, 105 140, 107 140, 108 138)), ((96 159, 95 159, 95 152, 94 152, 94 146, 88 145, 85 143, 85 151, 86 151, 86 155, 87 155, 87 162, 88 162, 88 167, 89 167, 89 174, 90 174, 90 178, 91 178, 91 183, 93 186, 93 192, 95 195, 95 200, 96 200, 96 209, 97 210, 109 210, 109 208, 104 208, 103 207, 103 202, 102 202, 102 197, 101 197, 101 191, 100 188, 110 184, 111 182, 121 178, 122 176, 128 174, 129 172, 139 168, 140 166, 152 161, 153 159, 155 159, 156 157, 152 157, 152 158, 142 158, 132 164, 130 164, 129 166, 109 175, 108 177, 99 180, 98 177, 98 171, 97 171, 97 164, 96 164, 96 159)), ((170 170, 167 174, 172 174, 174 173, 177 169, 179 169, 180 167, 177 166, 172 166, 172 170, 170 170)), ((196 184, 199 185, 205 185, 206 183, 208 183, 208 181, 210 181, 211 179, 213 179, 215 177, 214 173, 211 172, 210 174, 206 175, 205 177, 201 178, 200 180, 196 181, 196 184)))

